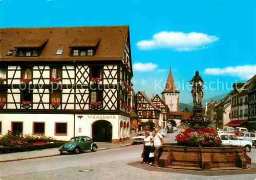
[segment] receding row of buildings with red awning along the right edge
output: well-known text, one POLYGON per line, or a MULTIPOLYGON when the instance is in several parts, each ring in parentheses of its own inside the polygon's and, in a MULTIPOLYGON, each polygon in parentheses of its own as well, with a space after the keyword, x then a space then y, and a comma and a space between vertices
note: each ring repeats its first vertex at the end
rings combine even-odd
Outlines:
POLYGON ((232 126, 256 130, 256 75, 245 83, 234 83, 226 97, 208 102, 204 110, 216 128, 232 126))

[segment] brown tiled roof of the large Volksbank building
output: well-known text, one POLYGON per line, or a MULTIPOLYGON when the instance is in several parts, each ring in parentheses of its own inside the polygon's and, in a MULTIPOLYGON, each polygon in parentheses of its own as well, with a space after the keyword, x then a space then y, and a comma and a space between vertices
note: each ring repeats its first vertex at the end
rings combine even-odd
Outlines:
MULTIPOLYGON (((128 25, 108 27, 55 27, 55 28, 0 28, 0 61, 84 61, 84 60, 122 60, 125 42, 129 34, 128 25), (26 39, 26 41, 24 41, 26 39), (48 39, 39 57, 6 56, 7 52, 25 45, 37 46, 40 40, 48 39), (76 39, 100 39, 96 54, 92 57, 71 57, 69 46, 76 39), (25 43, 26 42, 26 43, 25 43), (35 43, 36 42, 36 43, 35 43), (56 55, 57 49, 63 49, 62 55, 56 55)), ((76 41, 75 41, 76 42, 76 41)), ((78 42, 79 44, 79 42, 78 42)), ((82 43, 86 45, 86 43, 82 43)))

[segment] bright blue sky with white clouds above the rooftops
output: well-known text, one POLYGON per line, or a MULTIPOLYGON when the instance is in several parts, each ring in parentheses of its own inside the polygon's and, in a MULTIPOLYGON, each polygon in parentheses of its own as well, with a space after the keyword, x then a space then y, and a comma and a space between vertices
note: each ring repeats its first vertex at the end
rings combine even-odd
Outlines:
POLYGON ((128 24, 135 91, 161 93, 172 63, 175 82, 185 86, 180 101, 190 102, 186 83, 196 70, 206 82, 206 98, 255 74, 255 9, 254 0, 0 0, 0 27, 128 24))

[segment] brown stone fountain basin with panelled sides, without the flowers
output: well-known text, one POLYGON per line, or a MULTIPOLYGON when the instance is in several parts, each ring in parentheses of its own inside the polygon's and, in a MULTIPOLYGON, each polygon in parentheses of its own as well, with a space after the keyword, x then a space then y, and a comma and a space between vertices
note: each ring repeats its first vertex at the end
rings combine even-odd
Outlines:
POLYGON ((159 166, 190 170, 241 170, 251 165, 244 146, 187 147, 165 143, 159 166))

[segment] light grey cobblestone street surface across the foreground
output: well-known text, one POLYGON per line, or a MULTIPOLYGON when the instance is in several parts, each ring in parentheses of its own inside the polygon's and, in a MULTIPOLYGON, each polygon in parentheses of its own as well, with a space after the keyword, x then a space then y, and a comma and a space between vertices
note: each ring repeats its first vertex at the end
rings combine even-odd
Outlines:
MULTIPOLYGON (((165 142, 172 142, 176 133, 168 134, 165 142)), ((142 145, 121 147, 80 155, 65 155, 0 163, 1 179, 246 179, 254 180, 256 174, 200 176, 170 172, 148 171, 128 163, 141 161, 142 145)), ((256 149, 248 155, 256 163, 256 149), (254 157, 254 158, 253 158, 254 157)))

